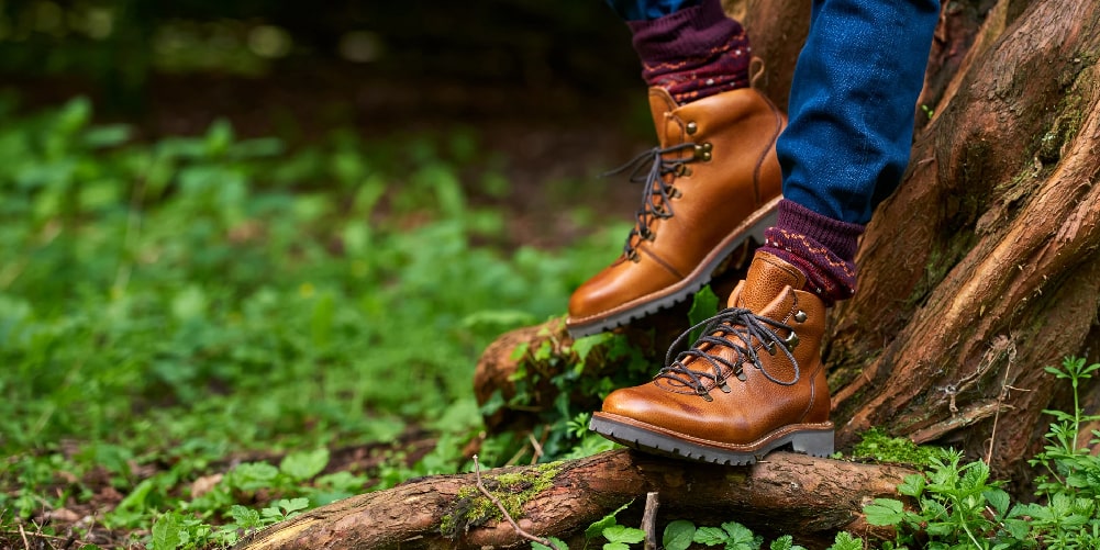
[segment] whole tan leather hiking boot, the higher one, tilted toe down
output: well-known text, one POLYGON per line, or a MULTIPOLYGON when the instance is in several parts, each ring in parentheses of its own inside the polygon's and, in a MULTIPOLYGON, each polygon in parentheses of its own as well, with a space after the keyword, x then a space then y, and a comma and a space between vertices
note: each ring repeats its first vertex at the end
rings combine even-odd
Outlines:
POLYGON ((646 184, 623 254, 581 285, 565 320, 580 338, 630 322, 698 290, 749 237, 774 222, 787 118, 751 88, 678 106, 649 90, 660 146, 616 172, 646 184))

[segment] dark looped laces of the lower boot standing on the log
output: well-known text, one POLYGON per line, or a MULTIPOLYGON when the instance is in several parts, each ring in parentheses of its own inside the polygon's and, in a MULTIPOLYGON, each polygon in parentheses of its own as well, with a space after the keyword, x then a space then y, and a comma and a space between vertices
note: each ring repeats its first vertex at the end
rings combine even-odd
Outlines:
POLYGON ((696 323, 680 334, 672 342, 669 353, 664 356, 666 366, 661 369, 656 377, 675 381, 692 388, 695 394, 708 402, 713 399, 710 395, 711 388, 718 387, 723 392, 730 392, 729 386, 726 384, 726 380, 730 375, 736 375, 738 380, 744 382, 746 380, 744 371, 746 365, 759 369, 769 381, 776 384, 792 386, 801 377, 799 363, 794 360, 794 354, 791 353, 791 349, 796 343, 796 338, 794 329, 789 324, 758 316, 746 308, 724 309, 718 315, 696 323), (703 336, 695 341, 691 349, 680 352, 673 361, 672 350, 678 349, 692 331, 700 327, 705 327, 703 336), (779 336, 778 330, 787 330, 791 336, 784 339, 779 336), (762 349, 767 350, 769 354, 774 354, 777 349, 782 351, 791 362, 791 365, 794 366, 793 380, 781 381, 769 373, 760 362, 757 348, 752 344, 754 340, 760 342, 763 346, 762 349), (721 348, 734 350, 734 360, 730 361, 716 353, 711 353, 711 351, 717 352, 721 348), (703 369, 688 366, 685 361, 689 359, 692 360, 692 366, 695 366, 701 361, 705 362, 703 369), (707 387, 707 381, 712 383, 710 384, 710 388, 707 387))

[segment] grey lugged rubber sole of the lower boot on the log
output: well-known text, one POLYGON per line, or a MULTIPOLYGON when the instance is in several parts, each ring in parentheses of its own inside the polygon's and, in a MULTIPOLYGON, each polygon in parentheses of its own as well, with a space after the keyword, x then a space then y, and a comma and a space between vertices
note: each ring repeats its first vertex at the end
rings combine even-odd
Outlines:
POLYGON ((834 449, 833 422, 785 426, 750 446, 723 446, 691 440, 685 439, 686 436, 675 437, 657 427, 646 429, 644 426, 641 422, 616 420, 615 415, 606 413, 596 413, 588 422, 590 430, 631 449, 715 464, 754 464, 769 452, 785 446, 791 446, 794 452, 812 457, 828 457, 834 449))

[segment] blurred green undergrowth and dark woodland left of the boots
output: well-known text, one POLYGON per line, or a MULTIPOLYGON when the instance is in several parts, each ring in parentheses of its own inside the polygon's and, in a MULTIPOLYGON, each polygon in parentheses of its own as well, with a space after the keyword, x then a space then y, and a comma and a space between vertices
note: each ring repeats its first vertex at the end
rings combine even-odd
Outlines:
POLYGON ((606 448, 471 378, 618 254, 644 101, 597 1, 0 0, 0 547, 606 448))

